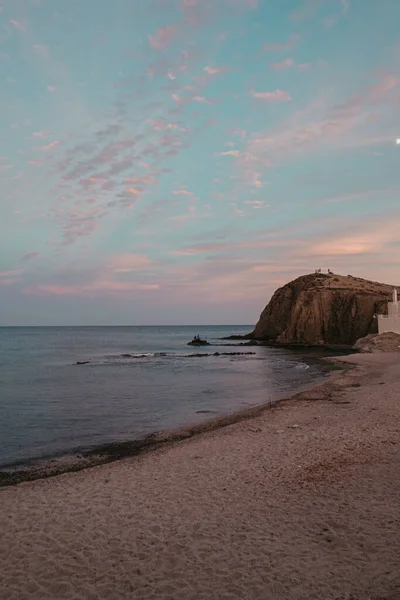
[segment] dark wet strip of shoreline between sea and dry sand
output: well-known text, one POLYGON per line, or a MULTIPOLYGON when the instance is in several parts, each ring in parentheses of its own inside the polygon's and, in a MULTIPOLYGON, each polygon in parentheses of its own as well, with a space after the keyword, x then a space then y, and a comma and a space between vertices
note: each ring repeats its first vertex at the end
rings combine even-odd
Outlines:
POLYGON ((79 472, 129 457, 142 456, 160 448, 168 447, 173 443, 256 418, 267 410, 273 410, 275 406, 282 402, 299 399, 302 394, 320 387, 329 386, 343 372, 356 369, 355 365, 341 360, 346 356, 320 357, 321 361, 331 363, 331 370, 324 374, 324 378, 306 385, 301 391, 294 392, 284 398, 269 400, 249 408, 230 412, 226 415, 215 416, 201 423, 188 424, 176 429, 161 430, 135 440, 108 442, 92 448, 78 448, 70 453, 60 453, 27 460, 21 459, 12 464, 0 466, 0 489, 23 482, 57 477, 65 473, 79 472))

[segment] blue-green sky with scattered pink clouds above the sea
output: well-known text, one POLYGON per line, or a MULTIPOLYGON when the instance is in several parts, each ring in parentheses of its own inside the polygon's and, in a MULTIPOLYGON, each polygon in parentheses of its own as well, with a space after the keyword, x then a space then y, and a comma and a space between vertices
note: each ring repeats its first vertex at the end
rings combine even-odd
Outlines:
MULTIPOLYGON (((400 284, 398 0, 0 0, 0 325, 400 284)), ((399 140, 400 141, 400 140, 399 140)))

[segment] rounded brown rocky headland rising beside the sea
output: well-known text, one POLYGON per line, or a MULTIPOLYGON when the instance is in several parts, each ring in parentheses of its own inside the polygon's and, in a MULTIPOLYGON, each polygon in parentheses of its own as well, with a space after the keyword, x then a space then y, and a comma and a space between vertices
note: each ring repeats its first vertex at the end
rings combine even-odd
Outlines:
POLYGON ((281 344, 343 344, 377 332, 393 286, 341 275, 304 275, 279 288, 251 337, 281 344))

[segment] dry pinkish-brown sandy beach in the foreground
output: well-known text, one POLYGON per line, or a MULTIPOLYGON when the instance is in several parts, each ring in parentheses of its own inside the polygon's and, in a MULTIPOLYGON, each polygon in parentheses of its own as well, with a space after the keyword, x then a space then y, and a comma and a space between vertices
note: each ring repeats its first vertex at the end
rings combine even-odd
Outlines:
POLYGON ((146 455, 0 490, 1 600, 399 600, 400 357, 146 455))

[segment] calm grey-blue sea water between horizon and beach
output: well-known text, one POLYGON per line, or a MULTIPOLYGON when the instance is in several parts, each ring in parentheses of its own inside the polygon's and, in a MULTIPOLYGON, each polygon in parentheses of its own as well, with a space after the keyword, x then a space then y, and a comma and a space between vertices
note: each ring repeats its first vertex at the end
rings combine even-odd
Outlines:
POLYGON ((251 329, 0 328, 0 466, 196 423, 323 376, 312 355, 218 346, 251 329), (187 346, 197 333, 216 345, 187 346), (256 354, 190 356, 234 351, 256 354))

